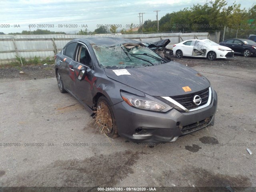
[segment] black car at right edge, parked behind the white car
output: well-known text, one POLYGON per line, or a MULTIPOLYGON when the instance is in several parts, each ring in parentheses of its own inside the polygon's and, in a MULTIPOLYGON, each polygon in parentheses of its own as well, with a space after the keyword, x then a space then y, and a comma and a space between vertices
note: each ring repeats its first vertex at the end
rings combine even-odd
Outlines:
POLYGON ((248 39, 228 39, 219 43, 222 46, 231 48, 235 54, 242 54, 245 57, 256 55, 256 42, 248 39))

